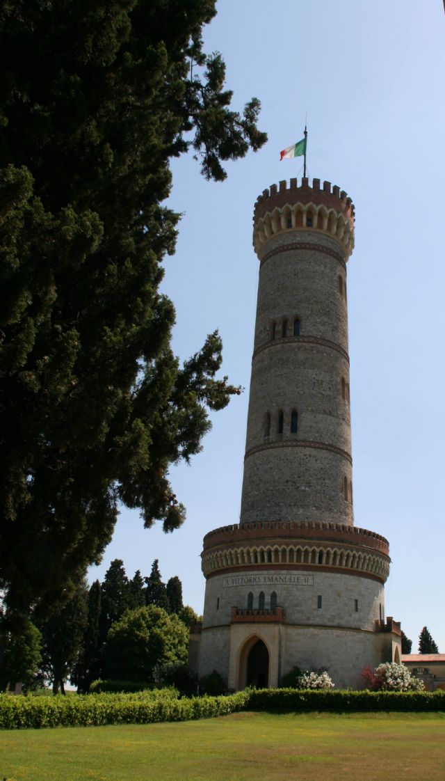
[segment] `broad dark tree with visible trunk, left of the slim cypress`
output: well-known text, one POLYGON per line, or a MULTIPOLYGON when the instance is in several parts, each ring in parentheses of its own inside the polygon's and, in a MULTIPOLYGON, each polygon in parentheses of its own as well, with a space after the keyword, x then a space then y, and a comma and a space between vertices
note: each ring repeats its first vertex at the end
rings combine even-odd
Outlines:
POLYGON ((65 682, 77 664, 87 627, 87 583, 82 580, 58 614, 41 625, 41 671, 52 683, 53 694, 65 694, 65 682))

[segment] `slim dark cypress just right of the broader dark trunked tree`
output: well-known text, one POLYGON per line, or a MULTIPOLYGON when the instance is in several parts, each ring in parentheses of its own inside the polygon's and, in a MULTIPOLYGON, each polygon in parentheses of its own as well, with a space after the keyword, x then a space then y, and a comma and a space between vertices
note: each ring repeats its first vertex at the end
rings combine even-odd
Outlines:
POLYGON ((71 679, 79 691, 90 690, 91 683, 101 675, 101 584, 95 580, 88 592, 87 627, 77 664, 71 679))

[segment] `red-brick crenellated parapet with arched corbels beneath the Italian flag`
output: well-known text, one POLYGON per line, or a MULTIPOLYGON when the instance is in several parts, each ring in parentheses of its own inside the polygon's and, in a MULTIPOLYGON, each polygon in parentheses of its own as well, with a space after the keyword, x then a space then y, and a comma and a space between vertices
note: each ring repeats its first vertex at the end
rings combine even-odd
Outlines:
POLYGON ((333 237, 344 248, 345 260, 354 249, 354 204, 340 187, 307 177, 272 184, 258 196, 254 211, 253 244, 262 260, 265 246, 276 234, 314 230, 333 237))

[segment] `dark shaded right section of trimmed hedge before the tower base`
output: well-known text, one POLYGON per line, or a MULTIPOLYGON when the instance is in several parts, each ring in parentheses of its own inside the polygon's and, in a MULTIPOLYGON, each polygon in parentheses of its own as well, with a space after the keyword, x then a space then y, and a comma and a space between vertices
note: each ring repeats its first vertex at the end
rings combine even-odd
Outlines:
POLYGON ((445 711, 445 691, 251 690, 251 711, 445 711))

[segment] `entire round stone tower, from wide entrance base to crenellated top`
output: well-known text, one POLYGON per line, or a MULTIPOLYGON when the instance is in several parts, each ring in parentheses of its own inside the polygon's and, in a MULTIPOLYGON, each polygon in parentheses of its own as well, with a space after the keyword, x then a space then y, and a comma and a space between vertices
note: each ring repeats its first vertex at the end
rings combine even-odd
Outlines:
MULTIPOLYGON (((240 523, 205 536, 201 675, 277 686, 295 665, 361 686, 399 661, 384 537, 354 526, 347 260, 354 205, 319 179, 255 203, 260 262, 240 523)), ((198 640, 198 637, 195 637, 198 640)))

